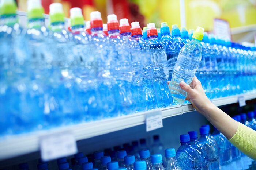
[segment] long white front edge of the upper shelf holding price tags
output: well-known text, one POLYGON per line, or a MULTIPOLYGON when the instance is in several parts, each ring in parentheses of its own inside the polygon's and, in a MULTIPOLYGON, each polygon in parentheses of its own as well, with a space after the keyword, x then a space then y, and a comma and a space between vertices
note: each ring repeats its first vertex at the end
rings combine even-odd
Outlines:
MULTIPOLYGON (((245 100, 251 100, 256 98, 256 93, 218 98, 212 100, 212 103, 214 103, 217 106, 237 103, 238 97, 240 96, 243 96, 245 100)), ((161 109, 161 111, 162 117, 163 119, 165 119, 167 117, 172 117, 176 115, 181 115, 186 112, 195 111, 195 109, 192 107, 191 104, 185 104, 169 108, 163 108, 161 109)), ((42 138, 42 136, 45 135, 54 135, 62 132, 71 132, 75 136, 75 139, 78 141, 102 134, 107 134, 109 132, 114 132, 118 130, 123 130, 125 128, 141 125, 145 123, 146 115, 148 112, 150 111, 90 123, 82 123, 78 125, 72 125, 69 127, 61 127, 56 128, 54 130, 10 136, 0 140, 0 160, 39 151, 39 140, 40 138, 42 138)))

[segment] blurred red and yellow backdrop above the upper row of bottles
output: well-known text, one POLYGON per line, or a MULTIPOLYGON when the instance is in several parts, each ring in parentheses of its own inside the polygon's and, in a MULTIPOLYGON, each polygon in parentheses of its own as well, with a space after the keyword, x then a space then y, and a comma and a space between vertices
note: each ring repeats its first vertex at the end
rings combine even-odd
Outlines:
MULTIPOLYGON (((90 20, 91 11, 97 10, 104 23, 108 14, 115 13, 118 19, 128 18, 130 23, 139 21, 141 27, 151 22, 157 27, 161 22, 181 27, 184 14, 188 30, 201 26, 211 32, 213 20, 218 18, 229 23, 233 41, 254 43, 256 38, 256 0, 42 0, 46 14, 53 2, 63 4, 66 17, 70 8, 80 7, 86 20, 90 20), (180 8, 182 2, 184 11, 180 8)), ((20 11, 26 11, 27 0, 17 3, 20 11)))

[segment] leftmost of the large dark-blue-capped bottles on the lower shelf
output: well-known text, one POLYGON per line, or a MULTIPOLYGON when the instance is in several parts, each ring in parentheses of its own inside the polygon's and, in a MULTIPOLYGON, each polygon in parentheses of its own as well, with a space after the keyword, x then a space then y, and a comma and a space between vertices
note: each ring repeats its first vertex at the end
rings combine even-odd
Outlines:
POLYGON ((176 152, 176 159, 182 170, 200 169, 200 159, 197 151, 190 144, 188 134, 180 135, 181 146, 176 152))

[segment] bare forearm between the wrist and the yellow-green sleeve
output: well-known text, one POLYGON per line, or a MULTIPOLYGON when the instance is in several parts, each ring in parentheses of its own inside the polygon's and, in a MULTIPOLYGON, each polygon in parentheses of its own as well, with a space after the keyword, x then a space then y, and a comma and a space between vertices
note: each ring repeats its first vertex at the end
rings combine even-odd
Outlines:
POLYGON ((227 139, 231 139, 236 134, 238 122, 214 104, 209 104, 202 114, 211 122, 212 125, 214 125, 214 127, 225 135, 227 139))

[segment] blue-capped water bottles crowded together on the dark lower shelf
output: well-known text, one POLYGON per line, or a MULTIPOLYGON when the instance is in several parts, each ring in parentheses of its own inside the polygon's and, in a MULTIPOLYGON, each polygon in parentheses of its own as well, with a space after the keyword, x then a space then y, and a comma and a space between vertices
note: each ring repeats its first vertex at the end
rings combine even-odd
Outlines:
MULTIPOLYGON (((256 128, 255 113, 248 112, 236 115, 234 120, 256 128), (248 117, 248 119, 247 119, 248 117)), ((123 148, 115 146, 103 151, 94 152, 84 157, 82 152, 75 154, 70 163, 66 158, 57 159, 59 170, 72 168, 73 170, 255 170, 256 162, 234 147, 227 138, 216 128, 209 133, 210 126, 203 125, 197 131, 189 131, 180 135, 181 146, 175 152, 174 148, 165 149, 154 136, 154 143, 150 150, 146 139, 123 144, 123 148), (153 154, 150 156, 150 152, 153 154), (105 155, 105 156, 104 156, 105 155), (163 158, 165 160, 163 160, 163 158), (71 166, 69 166, 71 165, 71 166)), ((26 164, 26 163, 25 163, 26 164)), ((21 164, 23 165, 23 164, 21 164)), ((27 165, 27 164, 26 164, 27 165)), ((48 163, 39 161, 38 170, 48 169, 48 163), (44 168, 43 168, 44 167, 44 168)), ((28 169, 28 168, 27 168, 28 169)), ((26 168, 20 170, 26 170, 26 168)))

